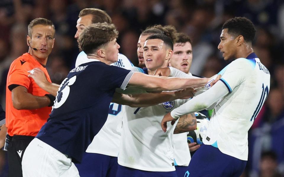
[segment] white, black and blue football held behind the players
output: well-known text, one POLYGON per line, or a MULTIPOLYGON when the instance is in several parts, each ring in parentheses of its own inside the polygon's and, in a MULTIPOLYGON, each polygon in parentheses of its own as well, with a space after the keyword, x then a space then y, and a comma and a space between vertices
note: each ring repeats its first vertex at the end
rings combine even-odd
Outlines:
POLYGON ((209 118, 206 117, 204 114, 201 114, 200 112, 195 112, 196 116, 196 123, 197 128, 196 130, 190 131, 187 134, 187 142, 193 143, 196 142, 198 145, 201 145, 202 137, 206 133, 206 130, 209 125, 209 118))

